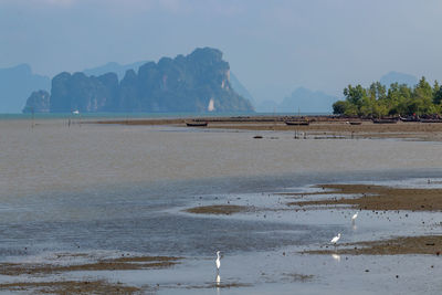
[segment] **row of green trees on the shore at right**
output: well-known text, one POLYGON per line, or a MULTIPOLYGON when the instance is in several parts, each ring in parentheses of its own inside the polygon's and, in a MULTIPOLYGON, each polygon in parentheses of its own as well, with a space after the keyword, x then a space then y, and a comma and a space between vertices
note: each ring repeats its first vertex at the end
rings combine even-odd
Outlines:
POLYGON ((385 116, 428 116, 442 113, 442 87, 438 81, 433 86, 425 77, 410 87, 393 83, 387 88, 380 82, 368 88, 361 85, 344 88, 345 101, 333 104, 333 113, 345 116, 385 117, 385 116))

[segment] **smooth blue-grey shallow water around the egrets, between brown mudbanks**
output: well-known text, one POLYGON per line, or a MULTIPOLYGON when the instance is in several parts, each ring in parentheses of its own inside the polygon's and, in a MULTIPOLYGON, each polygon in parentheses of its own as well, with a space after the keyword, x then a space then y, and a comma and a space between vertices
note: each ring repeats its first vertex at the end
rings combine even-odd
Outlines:
MULTIPOLYGON (((421 182, 422 179, 415 180, 418 186, 424 186, 421 182)), ((379 183, 383 185, 376 182, 379 183)), ((306 188, 298 192, 323 190, 306 188)), ((337 233, 341 233, 338 249, 340 243, 441 234, 440 212, 362 210, 352 223, 355 209, 303 210, 288 207, 291 198, 280 193, 198 193, 179 201, 170 199, 169 206, 156 199, 154 208, 149 208, 148 201, 136 198, 117 199, 118 206, 125 208, 117 220, 102 217, 70 223, 44 221, 4 226, 11 240, 3 239, 0 253, 2 261, 8 262, 74 265, 123 254, 167 254, 183 259, 164 268, 2 275, 0 282, 104 281, 156 294, 293 294, 293 289, 307 294, 348 294, 349 289, 357 294, 372 294, 379 289, 391 294, 434 294, 441 289, 442 260, 434 255, 301 254, 333 249, 329 241, 337 233), (253 210, 229 215, 186 212, 186 209, 204 206, 253 210), (25 240, 30 243, 23 243, 27 249, 11 251, 31 229, 33 235, 25 240), (40 247, 35 249, 32 244, 35 242, 40 247), (223 255, 219 282, 214 266, 217 250, 223 255)), ((306 194, 305 198, 316 197, 306 194)), ((339 194, 330 191, 320 198, 339 198, 339 194)))

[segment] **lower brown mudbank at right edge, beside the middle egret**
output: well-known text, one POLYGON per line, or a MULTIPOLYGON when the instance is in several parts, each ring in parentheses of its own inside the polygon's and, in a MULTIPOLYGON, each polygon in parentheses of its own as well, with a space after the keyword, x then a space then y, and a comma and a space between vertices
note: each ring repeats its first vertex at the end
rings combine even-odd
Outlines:
POLYGON ((400 236, 383 241, 343 243, 337 247, 304 251, 304 254, 348 254, 348 255, 406 255, 442 253, 442 235, 400 236))

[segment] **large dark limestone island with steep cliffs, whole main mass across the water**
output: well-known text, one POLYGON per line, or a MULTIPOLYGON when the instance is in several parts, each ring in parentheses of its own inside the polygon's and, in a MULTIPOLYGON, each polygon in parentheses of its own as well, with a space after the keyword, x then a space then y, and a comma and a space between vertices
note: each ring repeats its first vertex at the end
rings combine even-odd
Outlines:
POLYGON ((176 59, 126 72, 86 76, 61 73, 52 80, 50 110, 94 112, 250 112, 249 101, 230 85, 230 66, 215 49, 197 49, 176 59), (212 102, 212 103, 210 103, 212 102))

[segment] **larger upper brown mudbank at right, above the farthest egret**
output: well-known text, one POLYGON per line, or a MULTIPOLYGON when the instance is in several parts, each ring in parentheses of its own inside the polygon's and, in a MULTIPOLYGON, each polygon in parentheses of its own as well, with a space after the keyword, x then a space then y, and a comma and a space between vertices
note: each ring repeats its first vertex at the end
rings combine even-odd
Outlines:
MULTIPOLYGON (((410 210, 410 211, 441 211, 442 210, 442 189, 404 189, 367 185, 323 185, 324 192, 311 194, 329 194, 333 192, 343 194, 341 198, 333 198, 314 201, 288 202, 288 206, 303 207, 336 207, 351 206, 360 210, 410 210), (360 194, 361 197, 345 196, 360 194)), ((294 198, 302 198, 308 193, 294 193, 294 198)))

